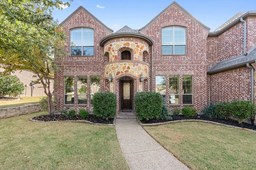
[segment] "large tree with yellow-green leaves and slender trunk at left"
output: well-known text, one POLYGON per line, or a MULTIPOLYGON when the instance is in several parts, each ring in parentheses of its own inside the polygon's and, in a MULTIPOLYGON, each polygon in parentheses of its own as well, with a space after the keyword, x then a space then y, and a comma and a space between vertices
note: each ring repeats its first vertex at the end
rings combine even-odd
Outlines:
POLYGON ((60 0, 0 0, 0 63, 6 72, 30 70, 38 76, 53 114, 50 80, 54 58, 65 55, 65 34, 51 14, 68 2, 60 0))

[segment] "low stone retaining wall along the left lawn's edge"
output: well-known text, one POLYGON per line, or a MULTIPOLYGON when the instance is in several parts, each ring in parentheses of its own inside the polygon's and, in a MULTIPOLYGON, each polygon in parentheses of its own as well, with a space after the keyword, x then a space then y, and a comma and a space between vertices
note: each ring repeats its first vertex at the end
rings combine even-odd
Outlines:
POLYGON ((0 109, 0 119, 5 119, 8 117, 14 117, 19 115, 27 115, 38 111, 40 111, 39 104, 2 108, 0 109))

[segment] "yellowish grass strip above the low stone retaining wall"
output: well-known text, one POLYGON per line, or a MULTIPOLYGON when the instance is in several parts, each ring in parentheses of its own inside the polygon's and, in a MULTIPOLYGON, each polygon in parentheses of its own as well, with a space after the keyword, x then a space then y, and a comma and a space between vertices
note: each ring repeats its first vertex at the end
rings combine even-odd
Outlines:
POLYGON ((1 100, 0 108, 38 104, 43 96, 20 97, 20 100, 1 100))

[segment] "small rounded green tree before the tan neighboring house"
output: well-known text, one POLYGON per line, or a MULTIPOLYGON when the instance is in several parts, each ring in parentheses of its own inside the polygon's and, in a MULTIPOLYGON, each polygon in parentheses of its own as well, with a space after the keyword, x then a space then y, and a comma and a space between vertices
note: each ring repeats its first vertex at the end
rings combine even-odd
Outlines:
POLYGON ((6 95, 21 94, 24 90, 24 85, 17 76, 0 74, 0 98, 6 95))

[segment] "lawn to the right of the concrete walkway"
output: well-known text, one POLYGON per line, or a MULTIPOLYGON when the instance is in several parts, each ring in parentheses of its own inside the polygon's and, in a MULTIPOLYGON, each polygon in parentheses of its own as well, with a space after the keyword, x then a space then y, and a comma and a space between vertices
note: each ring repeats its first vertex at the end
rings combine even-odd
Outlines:
POLYGON ((252 170, 256 133, 202 122, 182 122, 144 129, 193 170, 252 170))

